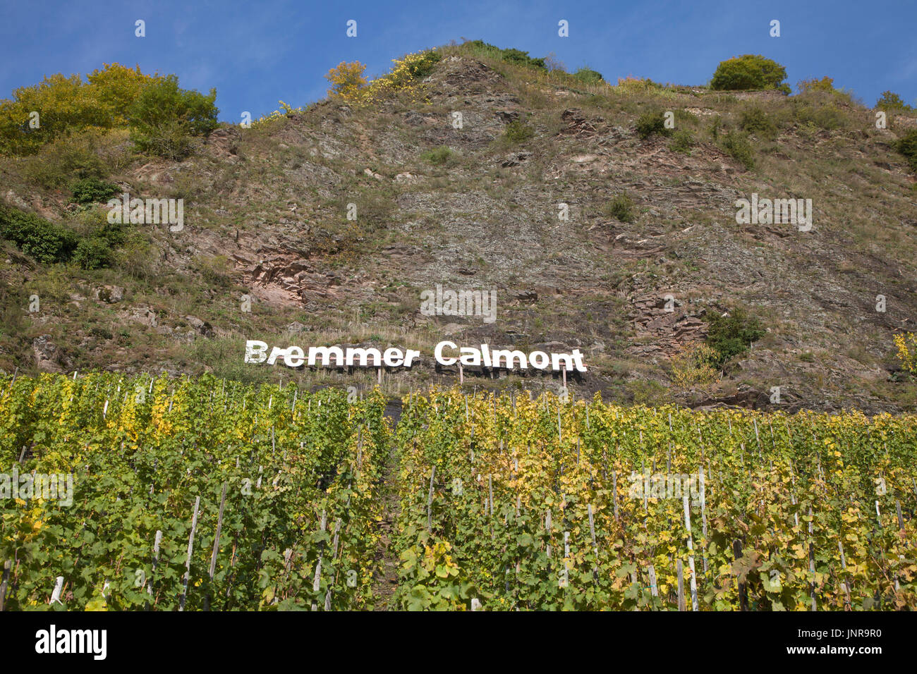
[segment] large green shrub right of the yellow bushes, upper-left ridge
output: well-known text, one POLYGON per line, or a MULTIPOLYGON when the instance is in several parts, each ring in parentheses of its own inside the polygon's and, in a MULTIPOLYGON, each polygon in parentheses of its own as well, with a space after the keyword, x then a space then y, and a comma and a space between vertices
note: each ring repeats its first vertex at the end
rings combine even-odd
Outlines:
POLYGON ((182 160, 191 153, 194 136, 218 126, 215 99, 215 89, 206 96, 180 89, 178 78, 169 75, 146 87, 131 105, 130 139, 141 152, 182 160))

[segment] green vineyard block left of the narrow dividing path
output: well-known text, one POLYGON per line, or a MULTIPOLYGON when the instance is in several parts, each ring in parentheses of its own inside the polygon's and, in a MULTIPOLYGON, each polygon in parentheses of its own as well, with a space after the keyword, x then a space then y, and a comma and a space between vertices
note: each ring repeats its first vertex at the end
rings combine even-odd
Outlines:
POLYGON ((2 386, 0 472, 74 475, 69 506, 0 500, 5 610, 370 604, 381 396, 114 374, 2 386))

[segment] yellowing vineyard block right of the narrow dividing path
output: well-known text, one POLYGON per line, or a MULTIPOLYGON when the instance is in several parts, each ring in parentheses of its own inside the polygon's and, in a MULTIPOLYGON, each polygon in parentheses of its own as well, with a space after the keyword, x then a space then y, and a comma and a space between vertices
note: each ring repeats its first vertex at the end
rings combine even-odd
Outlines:
POLYGON ((403 608, 917 607, 914 416, 452 391, 397 439, 403 608))

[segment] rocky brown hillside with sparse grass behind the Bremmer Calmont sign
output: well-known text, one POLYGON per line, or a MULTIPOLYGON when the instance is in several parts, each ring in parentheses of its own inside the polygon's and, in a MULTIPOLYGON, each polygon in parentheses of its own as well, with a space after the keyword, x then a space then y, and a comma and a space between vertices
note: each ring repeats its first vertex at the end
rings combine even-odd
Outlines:
MULTIPOLYGON (((467 46, 439 53, 409 90, 223 125, 182 161, 109 133, 107 180, 184 199, 184 227, 135 225, 93 271, 4 244, 0 366, 363 387, 375 373, 245 365, 244 342, 421 348, 420 366, 384 374, 394 393, 457 380, 430 355, 450 338, 580 348, 578 396, 761 407, 779 387, 790 409, 913 408, 892 341, 917 327, 917 189, 895 149, 912 115, 877 128, 844 94, 586 84, 467 46), (666 112, 674 128, 654 128, 666 112), (812 227, 737 223, 753 193, 811 199, 812 227), (495 292, 496 319, 422 314, 437 284, 495 292), (724 314, 759 338, 713 379, 679 377, 724 314)), ((0 158, 7 207, 76 230, 104 219, 105 204, 37 181, 40 160, 0 158)), ((470 370, 479 388, 560 385, 470 370)))

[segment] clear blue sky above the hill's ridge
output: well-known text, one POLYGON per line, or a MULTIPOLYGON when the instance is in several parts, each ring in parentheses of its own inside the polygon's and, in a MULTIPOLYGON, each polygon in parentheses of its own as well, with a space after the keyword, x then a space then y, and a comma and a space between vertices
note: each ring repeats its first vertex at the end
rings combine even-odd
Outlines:
POLYGON ((13 2, 2 0, 0 97, 45 74, 85 74, 105 62, 175 73, 184 88, 216 88, 220 119, 258 117, 279 100, 322 98, 340 61, 386 72, 408 51, 451 39, 483 39, 582 65, 614 82, 709 81, 719 61, 760 53, 801 79, 834 77, 867 105, 890 89, 917 104, 917 3, 851 0, 617 2, 613 0, 426 0, 415 2, 13 2), (134 35, 137 19, 146 37, 134 35), (348 19, 358 35, 346 36, 348 19), (558 37, 558 20, 569 38, 558 37), (780 37, 768 35, 771 19, 780 37))

